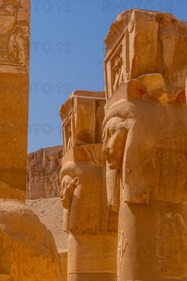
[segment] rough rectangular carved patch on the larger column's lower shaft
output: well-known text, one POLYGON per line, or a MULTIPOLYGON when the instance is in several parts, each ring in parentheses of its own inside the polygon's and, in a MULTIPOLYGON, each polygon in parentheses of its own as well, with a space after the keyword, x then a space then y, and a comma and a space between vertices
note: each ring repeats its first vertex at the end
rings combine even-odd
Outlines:
POLYGON ((162 278, 186 277, 187 228, 181 215, 158 216, 156 223, 157 273, 162 278), (171 266, 172 265, 172 266, 171 266))

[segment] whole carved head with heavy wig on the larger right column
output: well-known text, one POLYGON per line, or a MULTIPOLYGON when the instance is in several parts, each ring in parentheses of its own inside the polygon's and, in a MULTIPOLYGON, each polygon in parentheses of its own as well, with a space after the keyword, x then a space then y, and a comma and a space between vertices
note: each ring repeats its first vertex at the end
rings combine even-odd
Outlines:
POLYGON ((103 153, 120 170, 124 202, 186 202, 186 116, 186 106, 144 98, 108 106, 103 153))

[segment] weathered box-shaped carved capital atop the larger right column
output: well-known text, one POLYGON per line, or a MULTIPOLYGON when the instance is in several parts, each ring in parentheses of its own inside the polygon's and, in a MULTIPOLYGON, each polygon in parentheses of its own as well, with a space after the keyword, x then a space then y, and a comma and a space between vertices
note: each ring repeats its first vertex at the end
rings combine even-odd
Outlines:
MULTIPOLYGON (((171 14, 137 9, 119 14, 105 39, 106 100, 118 88, 125 98, 124 82, 147 74, 161 74, 175 100, 185 87, 186 37, 185 22, 171 14)), ((130 88, 130 94, 135 90, 130 88)))

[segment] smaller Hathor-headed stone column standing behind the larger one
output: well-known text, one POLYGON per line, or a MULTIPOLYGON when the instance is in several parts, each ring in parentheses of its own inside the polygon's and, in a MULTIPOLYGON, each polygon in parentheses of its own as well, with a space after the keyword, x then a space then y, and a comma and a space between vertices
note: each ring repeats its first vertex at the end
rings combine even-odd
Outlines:
POLYGON ((64 143, 60 196, 69 233, 69 281, 116 276, 118 213, 107 206, 104 105, 103 92, 75 91, 60 108, 64 143))

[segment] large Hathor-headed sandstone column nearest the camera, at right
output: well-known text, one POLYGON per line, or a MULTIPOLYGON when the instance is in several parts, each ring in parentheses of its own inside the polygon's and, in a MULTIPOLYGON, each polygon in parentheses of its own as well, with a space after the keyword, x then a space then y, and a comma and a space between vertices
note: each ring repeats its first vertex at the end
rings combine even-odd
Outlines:
POLYGON ((120 173, 108 202, 120 197, 119 281, 186 279, 186 34, 172 14, 132 9, 105 39, 103 153, 120 173))

